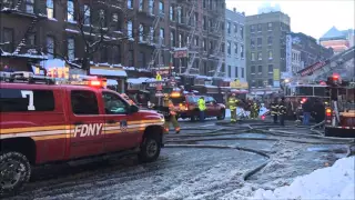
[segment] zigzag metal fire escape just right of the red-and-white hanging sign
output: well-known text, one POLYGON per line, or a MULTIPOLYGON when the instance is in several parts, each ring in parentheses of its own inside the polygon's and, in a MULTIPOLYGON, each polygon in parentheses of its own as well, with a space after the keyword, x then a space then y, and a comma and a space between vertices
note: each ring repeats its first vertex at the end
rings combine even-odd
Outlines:
POLYGON ((194 19, 194 13, 195 13, 197 3, 201 6, 201 1, 200 0, 191 0, 191 3, 192 3, 192 6, 191 6, 190 12, 189 12, 189 14, 186 17, 186 23, 191 24, 191 31, 189 33, 187 41, 186 41, 186 49, 189 51, 189 62, 187 62, 187 68, 186 68, 185 72, 184 72, 184 74, 190 74, 191 73, 190 71, 192 69, 195 70, 195 71, 199 70, 199 68, 197 69, 193 68, 193 64, 195 62, 195 58, 196 58, 196 56, 199 53, 196 51, 196 49, 194 48, 193 41, 194 41, 194 38, 195 38, 196 28, 197 28, 199 24, 201 24, 201 19, 200 18, 197 19, 199 20, 197 22, 194 19))

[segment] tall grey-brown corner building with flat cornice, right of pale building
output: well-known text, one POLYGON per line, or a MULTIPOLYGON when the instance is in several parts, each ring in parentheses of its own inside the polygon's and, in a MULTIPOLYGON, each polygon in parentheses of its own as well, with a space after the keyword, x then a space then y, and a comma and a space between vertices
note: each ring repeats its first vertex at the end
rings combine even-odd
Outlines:
POLYGON ((280 88, 286 71, 286 34, 290 17, 283 12, 247 16, 246 74, 252 89, 280 88))

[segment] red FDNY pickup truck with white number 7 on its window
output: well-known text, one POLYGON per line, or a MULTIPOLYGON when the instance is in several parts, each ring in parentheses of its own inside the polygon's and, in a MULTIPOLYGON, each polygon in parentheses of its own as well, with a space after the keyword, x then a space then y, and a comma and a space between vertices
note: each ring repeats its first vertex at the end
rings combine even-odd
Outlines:
POLYGON ((160 154, 163 116, 139 110, 101 81, 58 84, 4 72, 0 78, 0 197, 21 189, 32 164, 123 150, 142 162, 160 154))

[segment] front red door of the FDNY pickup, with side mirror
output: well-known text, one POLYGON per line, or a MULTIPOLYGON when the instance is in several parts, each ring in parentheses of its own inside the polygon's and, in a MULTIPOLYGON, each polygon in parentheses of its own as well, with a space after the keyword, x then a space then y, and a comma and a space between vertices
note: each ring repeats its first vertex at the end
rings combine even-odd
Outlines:
POLYGON ((119 151, 139 143, 141 124, 131 124, 139 120, 139 113, 129 114, 130 104, 118 93, 102 91, 104 107, 104 150, 119 151))

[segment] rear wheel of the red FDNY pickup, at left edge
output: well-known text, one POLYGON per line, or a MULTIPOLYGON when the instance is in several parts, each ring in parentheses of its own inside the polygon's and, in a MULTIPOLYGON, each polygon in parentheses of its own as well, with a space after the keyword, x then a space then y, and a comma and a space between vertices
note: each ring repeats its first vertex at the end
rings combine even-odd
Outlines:
POLYGON ((31 166, 22 153, 0 153, 0 197, 11 196, 21 190, 30 180, 31 166))

